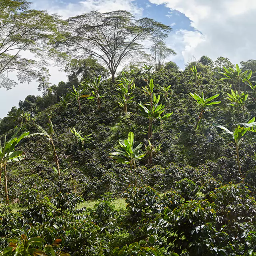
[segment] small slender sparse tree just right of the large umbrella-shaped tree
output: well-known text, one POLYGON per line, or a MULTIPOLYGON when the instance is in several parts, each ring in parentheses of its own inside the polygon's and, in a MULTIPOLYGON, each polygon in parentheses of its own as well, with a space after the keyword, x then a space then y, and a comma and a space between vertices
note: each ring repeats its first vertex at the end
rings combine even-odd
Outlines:
POLYGON ((164 61, 170 55, 175 55, 176 52, 168 48, 164 41, 158 40, 151 47, 150 52, 154 60, 156 71, 159 71, 164 66, 164 61))

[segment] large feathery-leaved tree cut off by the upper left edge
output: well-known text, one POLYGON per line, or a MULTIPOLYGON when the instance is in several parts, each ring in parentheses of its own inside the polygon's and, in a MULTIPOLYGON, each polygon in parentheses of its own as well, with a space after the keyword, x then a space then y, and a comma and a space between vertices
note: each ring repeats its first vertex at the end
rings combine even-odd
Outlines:
POLYGON ((29 51, 42 57, 58 34, 58 16, 31 10, 30 4, 25 0, 0 1, 0 87, 10 89, 17 84, 8 78, 8 72, 18 71, 21 83, 36 78, 38 63, 21 54, 29 51))

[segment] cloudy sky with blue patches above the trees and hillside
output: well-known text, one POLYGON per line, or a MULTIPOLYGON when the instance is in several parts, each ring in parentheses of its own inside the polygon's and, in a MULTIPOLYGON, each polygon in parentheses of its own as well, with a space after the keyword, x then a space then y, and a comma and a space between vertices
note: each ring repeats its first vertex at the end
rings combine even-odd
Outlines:
MULTIPOLYGON (((163 22, 173 28, 166 43, 177 52, 171 60, 181 68, 202 55, 212 60, 224 56, 233 63, 256 59, 255 0, 34 0, 32 7, 63 18, 92 10, 128 10, 136 18, 163 22)), ((52 84, 66 81, 58 68, 50 68, 50 73, 52 84)), ((18 84, 9 91, 0 88, 0 118, 28 94, 39 94, 35 82, 18 84)))

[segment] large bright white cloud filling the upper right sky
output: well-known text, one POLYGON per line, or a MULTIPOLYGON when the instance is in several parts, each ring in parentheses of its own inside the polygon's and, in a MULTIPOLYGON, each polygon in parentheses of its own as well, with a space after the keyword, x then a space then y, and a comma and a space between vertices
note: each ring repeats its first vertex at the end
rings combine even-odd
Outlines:
MULTIPOLYGON (((202 32, 180 30, 168 41, 180 40, 185 62, 190 56, 197 59, 208 55, 230 58, 234 63, 256 59, 256 1, 255 0, 150 0, 165 4, 171 10, 184 13, 191 26, 202 32)), ((173 44, 176 44, 173 42, 173 44)), ((180 49, 180 48, 179 48, 180 49)), ((174 50, 178 51, 177 48, 174 50)))

